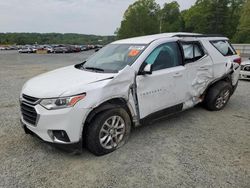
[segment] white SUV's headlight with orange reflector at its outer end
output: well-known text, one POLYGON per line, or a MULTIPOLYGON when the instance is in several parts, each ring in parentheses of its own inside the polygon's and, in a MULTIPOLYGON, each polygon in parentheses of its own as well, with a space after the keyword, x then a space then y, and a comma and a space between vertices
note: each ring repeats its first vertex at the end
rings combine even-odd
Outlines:
POLYGON ((78 101, 82 100, 86 94, 71 97, 60 97, 52 99, 43 99, 40 104, 47 110, 55 110, 61 108, 69 108, 74 106, 78 101))

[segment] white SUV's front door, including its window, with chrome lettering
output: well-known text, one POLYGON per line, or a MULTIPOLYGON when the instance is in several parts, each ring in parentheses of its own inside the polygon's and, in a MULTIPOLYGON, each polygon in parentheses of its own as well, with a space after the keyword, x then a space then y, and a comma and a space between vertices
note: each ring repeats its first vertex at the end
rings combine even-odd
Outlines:
POLYGON ((136 78, 140 119, 165 110, 167 113, 181 111, 187 88, 177 42, 156 47, 144 63, 152 65, 152 74, 136 78))

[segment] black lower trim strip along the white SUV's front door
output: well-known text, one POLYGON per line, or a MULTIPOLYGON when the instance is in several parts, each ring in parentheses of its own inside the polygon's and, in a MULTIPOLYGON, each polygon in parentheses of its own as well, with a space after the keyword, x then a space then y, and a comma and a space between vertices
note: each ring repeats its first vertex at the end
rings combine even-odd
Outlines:
POLYGON ((154 112, 154 113, 144 117, 143 119, 140 120, 140 124, 150 123, 154 120, 157 120, 157 119, 160 119, 160 118, 163 118, 166 116, 170 116, 172 114, 181 112, 182 109, 183 109, 183 103, 165 108, 163 110, 154 112))

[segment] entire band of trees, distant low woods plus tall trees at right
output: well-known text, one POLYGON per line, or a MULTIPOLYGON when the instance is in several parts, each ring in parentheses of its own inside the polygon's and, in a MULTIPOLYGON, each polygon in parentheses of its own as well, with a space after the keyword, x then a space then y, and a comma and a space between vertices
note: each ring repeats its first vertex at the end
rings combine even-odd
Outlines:
POLYGON ((0 44, 107 44, 118 39, 164 32, 222 34, 250 43, 250 0, 197 0, 187 10, 176 1, 161 8, 155 0, 137 0, 124 13, 115 36, 74 33, 0 33, 0 44))

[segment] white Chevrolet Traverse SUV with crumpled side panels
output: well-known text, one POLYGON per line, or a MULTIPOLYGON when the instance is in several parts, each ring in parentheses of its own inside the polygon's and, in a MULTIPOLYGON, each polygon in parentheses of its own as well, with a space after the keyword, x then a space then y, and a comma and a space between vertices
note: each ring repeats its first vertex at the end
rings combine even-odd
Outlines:
POLYGON ((165 33, 113 42, 87 61, 29 80, 21 91, 26 133, 95 155, 121 147, 132 126, 203 102, 225 107, 241 59, 225 37, 165 33))

